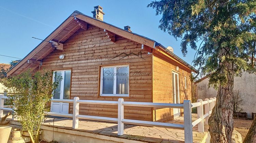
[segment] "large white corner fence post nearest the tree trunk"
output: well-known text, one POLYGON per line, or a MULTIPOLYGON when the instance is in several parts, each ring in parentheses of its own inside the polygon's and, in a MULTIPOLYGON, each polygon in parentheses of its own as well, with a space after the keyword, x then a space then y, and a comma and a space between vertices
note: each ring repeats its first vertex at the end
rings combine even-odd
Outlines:
POLYGON ((193 143, 191 101, 184 100, 184 135, 185 143, 193 143))

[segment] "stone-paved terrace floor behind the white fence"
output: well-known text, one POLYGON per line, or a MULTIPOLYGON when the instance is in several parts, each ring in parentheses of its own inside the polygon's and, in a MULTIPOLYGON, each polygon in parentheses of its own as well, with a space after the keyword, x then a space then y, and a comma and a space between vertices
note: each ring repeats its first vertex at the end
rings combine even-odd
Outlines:
MULTIPOLYGON (((196 120, 197 115, 192 115, 192 121, 196 120)), ((48 117, 43 125, 53 127, 53 119, 48 117)), ((183 116, 177 117, 169 123, 183 124, 183 116)), ((117 124, 109 122, 98 122, 92 120, 79 120, 79 128, 72 129, 72 118, 55 118, 54 128, 68 129, 82 132, 101 134, 104 136, 137 140, 142 142, 154 143, 183 143, 184 130, 169 129, 161 127, 145 127, 136 125, 124 125, 124 135, 117 136, 117 124)), ((200 143, 208 131, 208 125, 204 124, 204 133, 197 131, 197 126, 193 128, 193 142, 200 143)))

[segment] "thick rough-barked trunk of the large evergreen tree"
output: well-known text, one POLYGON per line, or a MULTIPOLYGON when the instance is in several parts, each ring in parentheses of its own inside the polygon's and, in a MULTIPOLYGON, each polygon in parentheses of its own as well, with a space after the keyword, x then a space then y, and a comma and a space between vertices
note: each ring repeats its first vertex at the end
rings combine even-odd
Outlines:
POLYGON ((227 74, 227 84, 219 85, 216 105, 209 117, 211 143, 231 143, 232 139, 234 64, 224 62, 221 72, 227 74))

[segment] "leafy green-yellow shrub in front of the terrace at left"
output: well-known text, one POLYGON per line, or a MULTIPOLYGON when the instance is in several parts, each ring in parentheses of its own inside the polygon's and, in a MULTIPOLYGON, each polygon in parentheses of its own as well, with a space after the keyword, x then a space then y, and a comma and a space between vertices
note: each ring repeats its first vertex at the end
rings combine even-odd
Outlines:
POLYGON ((29 69, 20 75, 2 79, 8 93, 13 93, 7 95, 13 115, 22 124, 22 130, 28 132, 32 143, 39 143, 40 126, 46 112, 49 112, 47 103, 61 80, 61 77, 56 77, 57 82, 53 82, 52 76, 51 71, 34 73, 29 69))

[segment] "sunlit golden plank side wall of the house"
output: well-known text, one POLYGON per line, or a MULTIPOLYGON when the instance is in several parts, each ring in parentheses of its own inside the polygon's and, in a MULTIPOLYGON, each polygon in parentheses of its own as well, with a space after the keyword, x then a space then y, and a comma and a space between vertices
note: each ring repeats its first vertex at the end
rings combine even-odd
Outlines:
MULTIPOLYGON (((172 71, 179 73, 180 81, 180 102, 184 99, 191 100, 191 71, 184 69, 179 63, 171 60, 161 52, 153 51, 153 102, 173 103, 172 91, 172 71), (179 71, 176 71, 179 66, 179 71), (185 89, 184 77, 187 77, 187 89, 185 89)), ((181 111, 183 112, 183 111, 181 111)), ((153 120, 158 122, 166 122, 173 119, 173 109, 157 109, 153 110, 153 120)))

